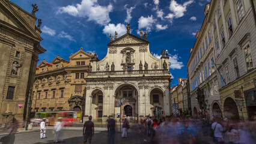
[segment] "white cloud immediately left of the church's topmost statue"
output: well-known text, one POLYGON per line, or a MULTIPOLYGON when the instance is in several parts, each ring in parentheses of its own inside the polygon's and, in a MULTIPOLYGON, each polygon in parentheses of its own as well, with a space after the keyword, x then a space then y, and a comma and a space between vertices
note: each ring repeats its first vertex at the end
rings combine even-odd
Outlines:
POLYGON ((106 35, 111 34, 112 37, 114 38, 115 31, 117 31, 118 37, 120 37, 121 35, 126 34, 127 29, 124 24, 118 23, 117 25, 115 25, 115 24, 109 23, 104 27, 103 34, 106 34, 106 35))

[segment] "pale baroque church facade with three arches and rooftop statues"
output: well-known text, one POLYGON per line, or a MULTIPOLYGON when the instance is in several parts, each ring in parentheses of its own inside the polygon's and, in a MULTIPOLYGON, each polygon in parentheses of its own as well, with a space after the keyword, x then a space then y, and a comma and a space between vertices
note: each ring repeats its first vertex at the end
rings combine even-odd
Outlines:
POLYGON ((109 35, 108 53, 101 61, 97 54, 91 58, 88 76, 85 78, 85 116, 105 121, 109 115, 120 116, 169 116, 171 99, 169 88, 168 51, 162 57, 150 53, 147 34, 140 37, 127 34, 114 40, 109 35))

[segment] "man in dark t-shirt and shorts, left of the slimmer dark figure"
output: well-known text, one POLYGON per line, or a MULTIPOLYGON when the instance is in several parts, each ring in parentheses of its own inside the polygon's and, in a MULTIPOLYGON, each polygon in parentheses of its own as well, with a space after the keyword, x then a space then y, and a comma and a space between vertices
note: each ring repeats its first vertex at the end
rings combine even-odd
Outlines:
POLYGON ((84 144, 91 144, 91 138, 94 135, 94 123, 91 121, 93 116, 89 116, 89 121, 86 121, 83 128, 84 144))

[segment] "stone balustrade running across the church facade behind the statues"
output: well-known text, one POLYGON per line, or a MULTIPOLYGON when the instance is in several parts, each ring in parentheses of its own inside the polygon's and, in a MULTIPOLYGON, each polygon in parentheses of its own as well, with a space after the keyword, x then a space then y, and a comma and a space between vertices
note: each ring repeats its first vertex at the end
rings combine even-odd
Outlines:
POLYGON ((132 70, 132 71, 92 71, 88 76, 126 75, 126 74, 168 74, 168 70, 132 70))

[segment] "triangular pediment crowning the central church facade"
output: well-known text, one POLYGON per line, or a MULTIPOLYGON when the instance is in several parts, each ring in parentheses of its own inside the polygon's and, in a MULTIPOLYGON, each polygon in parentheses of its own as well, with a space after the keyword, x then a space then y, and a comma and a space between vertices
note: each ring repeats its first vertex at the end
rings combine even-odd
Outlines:
POLYGON ((124 34, 117 40, 112 41, 108 46, 120 46, 120 45, 134 45, 134 44, 149 44, 148 41, 143 40, 142 38, 136 37, 132 34, 124 34))

